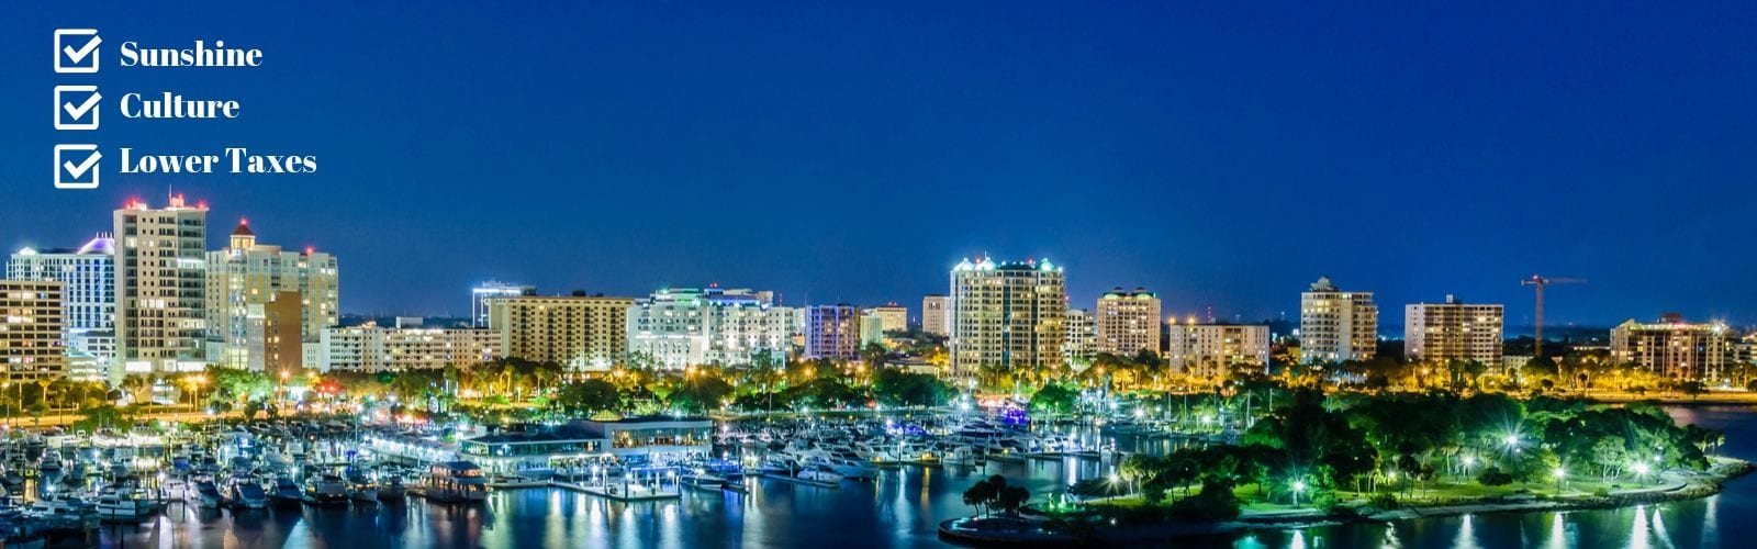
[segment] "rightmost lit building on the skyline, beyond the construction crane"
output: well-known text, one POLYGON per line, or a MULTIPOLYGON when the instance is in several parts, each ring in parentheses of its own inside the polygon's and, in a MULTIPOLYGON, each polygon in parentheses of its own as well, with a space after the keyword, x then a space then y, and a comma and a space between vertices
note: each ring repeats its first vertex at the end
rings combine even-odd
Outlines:
POLYGON ((1611 329, 1611 359, 1673 380, 1715 382, 1732 359, 1736 334, 1725 322, 1688 324, 1678 313, 1659 322, 1625 320, 1611 329))

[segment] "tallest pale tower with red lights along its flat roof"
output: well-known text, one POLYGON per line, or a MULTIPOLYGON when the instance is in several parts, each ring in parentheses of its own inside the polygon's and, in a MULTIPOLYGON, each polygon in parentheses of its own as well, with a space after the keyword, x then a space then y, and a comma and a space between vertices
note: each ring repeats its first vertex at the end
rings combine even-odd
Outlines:
POLYGON ((207 333, 207 206, 132 201, 116 227, 116 359, 123 373, 200 371, 207 333))

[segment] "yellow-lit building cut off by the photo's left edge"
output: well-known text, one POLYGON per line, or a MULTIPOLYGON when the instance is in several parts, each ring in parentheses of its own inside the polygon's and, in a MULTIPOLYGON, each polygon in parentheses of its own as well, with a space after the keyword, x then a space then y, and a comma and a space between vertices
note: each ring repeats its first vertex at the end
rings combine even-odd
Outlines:
POLYGON ((7 382, 67 373, 65 287, 54 280, 0 280, 0 364, 7 382))

